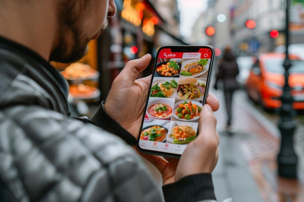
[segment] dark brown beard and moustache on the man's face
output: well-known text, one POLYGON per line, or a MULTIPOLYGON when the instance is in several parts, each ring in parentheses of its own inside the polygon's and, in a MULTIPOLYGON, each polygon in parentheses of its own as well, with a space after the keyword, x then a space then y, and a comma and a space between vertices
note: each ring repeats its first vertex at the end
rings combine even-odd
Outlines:
MULTIPOLYGON (((81 1, 67 0, 59 6, 57 46, 52 50, 49 61, 71 63, 81 60, 87 54, 88 43, 91 39, 82 34, 85 32, 81 23, 82 16, 86 12, 85 5, 80 4, 81 1), (71 33, 71 37, 68 38, 67 33, 71 33)), ((101 32, 106 29, 107 25, 106 19, 101 32)))

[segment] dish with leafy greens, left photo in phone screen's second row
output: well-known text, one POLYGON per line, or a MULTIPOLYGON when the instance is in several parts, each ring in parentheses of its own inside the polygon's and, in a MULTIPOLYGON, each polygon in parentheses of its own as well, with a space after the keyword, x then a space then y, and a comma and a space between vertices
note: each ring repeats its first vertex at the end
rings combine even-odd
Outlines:
POLYGON ((172 80, 156 80, 155 83, 152 84, 150 97, 171 97, 174 93, 176 93, 177 89, 177 81, 172 80))

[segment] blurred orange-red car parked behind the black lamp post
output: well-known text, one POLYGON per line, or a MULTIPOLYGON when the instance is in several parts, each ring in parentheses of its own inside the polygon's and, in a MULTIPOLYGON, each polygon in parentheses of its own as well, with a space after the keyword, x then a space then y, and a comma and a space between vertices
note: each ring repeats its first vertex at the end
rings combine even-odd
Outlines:
MULTIPOLYGON (((304 61, 296 55, 289 55, 291 68, 288 83, 292 88, 294 109, 304 109, 304 61)), ((285 53, 263 53, 253 64, 245 83, 246 92, 254 102, 264 109, 278 109, 282 103, 278 99, 285 84, 285 53)))

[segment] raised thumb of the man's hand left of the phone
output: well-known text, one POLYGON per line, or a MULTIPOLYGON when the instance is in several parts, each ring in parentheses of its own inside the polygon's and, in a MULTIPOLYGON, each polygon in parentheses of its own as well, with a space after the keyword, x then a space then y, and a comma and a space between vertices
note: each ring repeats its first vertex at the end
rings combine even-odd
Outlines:
POLYGON ((125 67, 119 74, 119 77, 123 80, 135 81, 139 72, 142 72, 147 68, 151 61, 151 55, 148 53, 143 57, 127 62, 125 67))

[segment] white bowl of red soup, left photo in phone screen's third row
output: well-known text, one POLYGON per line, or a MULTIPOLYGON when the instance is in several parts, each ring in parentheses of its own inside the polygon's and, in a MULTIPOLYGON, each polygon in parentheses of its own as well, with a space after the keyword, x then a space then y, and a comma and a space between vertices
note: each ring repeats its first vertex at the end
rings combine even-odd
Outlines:
POLYGON ((173 103, 168 99, 155 99, 149 102, 147 116, 150 119, 170 119, 173 103))

